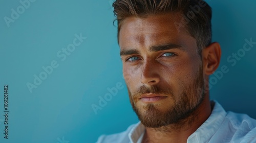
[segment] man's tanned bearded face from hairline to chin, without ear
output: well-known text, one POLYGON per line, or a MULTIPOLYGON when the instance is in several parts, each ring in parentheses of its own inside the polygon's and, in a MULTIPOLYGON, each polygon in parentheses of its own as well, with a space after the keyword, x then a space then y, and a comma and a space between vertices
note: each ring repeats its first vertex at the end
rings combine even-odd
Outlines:
POLYGON ((120 29, 123 76, 133 109, 146 127, 179 123, 204 98, 198 90, 203 89, 203 71, 196 39, 184 28, 178 32, 178 17, 128 17, 120 29))

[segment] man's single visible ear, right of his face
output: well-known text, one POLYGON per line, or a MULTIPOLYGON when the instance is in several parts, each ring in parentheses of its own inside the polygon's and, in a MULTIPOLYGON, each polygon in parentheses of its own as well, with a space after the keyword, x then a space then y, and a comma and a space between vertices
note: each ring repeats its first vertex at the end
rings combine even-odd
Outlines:
POLYGON ((213 42, 202 51, 203 71, 205 75, 211 75, 218 68, 221 61, 221 46, 213 42))

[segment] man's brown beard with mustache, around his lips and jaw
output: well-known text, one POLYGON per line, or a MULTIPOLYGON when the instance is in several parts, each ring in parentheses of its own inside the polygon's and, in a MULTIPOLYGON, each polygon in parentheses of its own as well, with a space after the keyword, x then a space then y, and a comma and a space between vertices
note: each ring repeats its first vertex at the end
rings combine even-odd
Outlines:
MULTIPOLYGON (((128 88, 133 110, 145 127, 160 128, 172 124, 182 127, 184 125, 182 121, 196 115, 195 110, 205 97, 202 64, 191 82, 186 82, 186 84, 181 82, 180 85, 182 92, 178 95, 175 95, 171 89, 159 87, 159 85, 151 87, 143 85, 134 93, 131 93, 128 88), (164 100, 171 100, 172 103, 169 105, 146 103, 138 106, 136 103, 140 100, 141 95, 146 93, 162 94, 167 97, 164 100)), ((193 118, 189 118, 189 120, 189 122, 193 122, 193 118)))

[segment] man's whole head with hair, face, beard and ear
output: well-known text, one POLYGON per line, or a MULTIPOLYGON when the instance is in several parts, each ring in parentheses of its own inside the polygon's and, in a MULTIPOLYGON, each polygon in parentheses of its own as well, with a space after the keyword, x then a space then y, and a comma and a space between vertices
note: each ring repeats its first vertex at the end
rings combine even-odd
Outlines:
POLYGON ((210 44, 210 7, 176 0, 119 0, 113 6, 134 111, 146 127, 181 124, 208 99, 204 81, 220 61, 219 44, 210 44))

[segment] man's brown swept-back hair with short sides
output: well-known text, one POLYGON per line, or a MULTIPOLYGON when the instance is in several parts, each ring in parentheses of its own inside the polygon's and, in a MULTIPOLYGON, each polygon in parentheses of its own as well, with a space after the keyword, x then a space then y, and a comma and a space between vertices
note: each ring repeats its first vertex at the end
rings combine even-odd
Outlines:
POLYGON ((181 13, 184 22, 176 22, 175 26, 177 30, 186 28, 189 35, 196 39, 200 56, 202 49, 211 43, 211 8, 202 0, 116 0, 113 7, 118 23, 118 43, 125 18, 170 12, 181 13))

